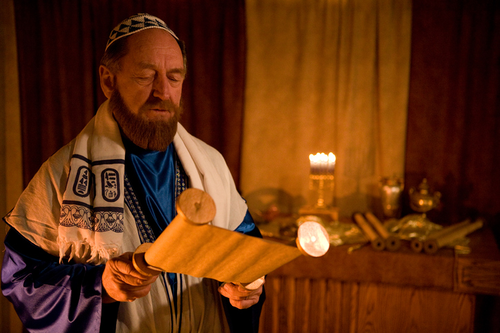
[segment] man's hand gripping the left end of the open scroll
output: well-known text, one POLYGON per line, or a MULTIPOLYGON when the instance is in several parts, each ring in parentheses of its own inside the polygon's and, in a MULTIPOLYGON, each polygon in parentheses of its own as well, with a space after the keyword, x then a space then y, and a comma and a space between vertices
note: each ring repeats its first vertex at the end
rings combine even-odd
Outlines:
MULTIPOLYGON (((149 277, 135 270, 132 252, 110 259, 102 273, 102 302, 132 302, 148 294, 157 275, 149 277)), ((160 272, 158 272, 160 274, 160 272)))

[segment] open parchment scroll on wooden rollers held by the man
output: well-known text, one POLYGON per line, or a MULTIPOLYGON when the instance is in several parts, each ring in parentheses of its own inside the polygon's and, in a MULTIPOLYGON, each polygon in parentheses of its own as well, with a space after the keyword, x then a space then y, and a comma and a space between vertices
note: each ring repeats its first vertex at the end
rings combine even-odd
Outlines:
POLYGON ((214 216, 209 194, 194 188, 182 192, 175 219, 155 243, 135 250, 135 269, 146 276, 158 271, 180 273, 255 290, 264 283, 265 274, 300 254, 323 256, 329 248, 328 234, 318 223, 302 223, 297 246, 289 246, 209 225, 214 216))

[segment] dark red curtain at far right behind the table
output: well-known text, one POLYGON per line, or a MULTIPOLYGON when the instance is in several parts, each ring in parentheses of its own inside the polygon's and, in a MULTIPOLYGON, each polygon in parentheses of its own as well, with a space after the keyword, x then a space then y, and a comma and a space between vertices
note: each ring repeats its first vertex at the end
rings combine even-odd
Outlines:
POLYGON ((406 184, 442 193, 437 223, 500 226, 500 2, 413 3, 406 184))

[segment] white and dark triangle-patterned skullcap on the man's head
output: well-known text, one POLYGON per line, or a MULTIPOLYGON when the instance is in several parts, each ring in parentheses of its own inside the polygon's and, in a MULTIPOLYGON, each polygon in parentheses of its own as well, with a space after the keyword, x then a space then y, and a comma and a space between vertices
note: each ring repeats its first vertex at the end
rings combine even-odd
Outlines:
POLYGON ((175 36, 175 33, 171 30, 171 28, 166 26, 164 21, 158 19, 153 15, 140 12, 137 15, 123 20, 117 26, 115 26, 113 31, 109 34, 108 43, 106 44, 106 50, 108 50, 109 46, 117 39, 150 28, 166 30, 173 36, 173 38, 177 39, 177 41, 179 40, 177 36, 175 36))

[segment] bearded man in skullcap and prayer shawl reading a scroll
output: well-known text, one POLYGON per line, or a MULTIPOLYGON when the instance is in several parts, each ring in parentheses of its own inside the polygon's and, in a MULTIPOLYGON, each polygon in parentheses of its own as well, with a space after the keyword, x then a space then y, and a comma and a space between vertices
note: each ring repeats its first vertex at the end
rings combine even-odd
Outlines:
POLYGON ((3 294, 37 332, 256 332, 262 287, 151 278, 131 263, 189 187, 213 197, 213 225, 260 236, 222 156, 178 123, 184 43, 137 14, 111 32, 99 74, 108 101, 4 218, 3 294))

